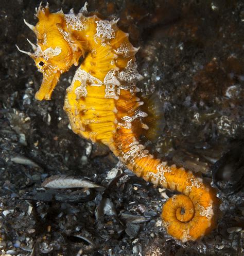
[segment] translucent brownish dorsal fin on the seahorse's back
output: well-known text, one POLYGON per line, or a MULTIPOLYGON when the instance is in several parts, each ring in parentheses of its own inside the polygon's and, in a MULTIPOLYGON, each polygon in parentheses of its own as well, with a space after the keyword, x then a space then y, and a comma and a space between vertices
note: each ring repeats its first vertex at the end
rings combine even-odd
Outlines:
POLYGON ((148 126, 148 129, 143 127, 142 135, 154 142, 162 135, 165 127, 163 103, 155 93, 140 95, 140 99, 144 101, 144 105, 141 106, 142 111, 148 114, 143 118, 143 126, 148 126))

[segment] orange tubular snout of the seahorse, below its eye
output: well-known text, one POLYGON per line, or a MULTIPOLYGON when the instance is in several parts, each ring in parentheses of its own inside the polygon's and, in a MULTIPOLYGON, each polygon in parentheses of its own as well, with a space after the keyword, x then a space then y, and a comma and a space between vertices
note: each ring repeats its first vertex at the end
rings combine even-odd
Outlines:
POLYGON ((50 100, 51 93, 53 92, 55 86, 57 85, 60 77, 60 72, 57 73, 49 73, 45 71, 43 73, 43 79, 40 89, 36 92, 35 98, 36 100, 50 100))

